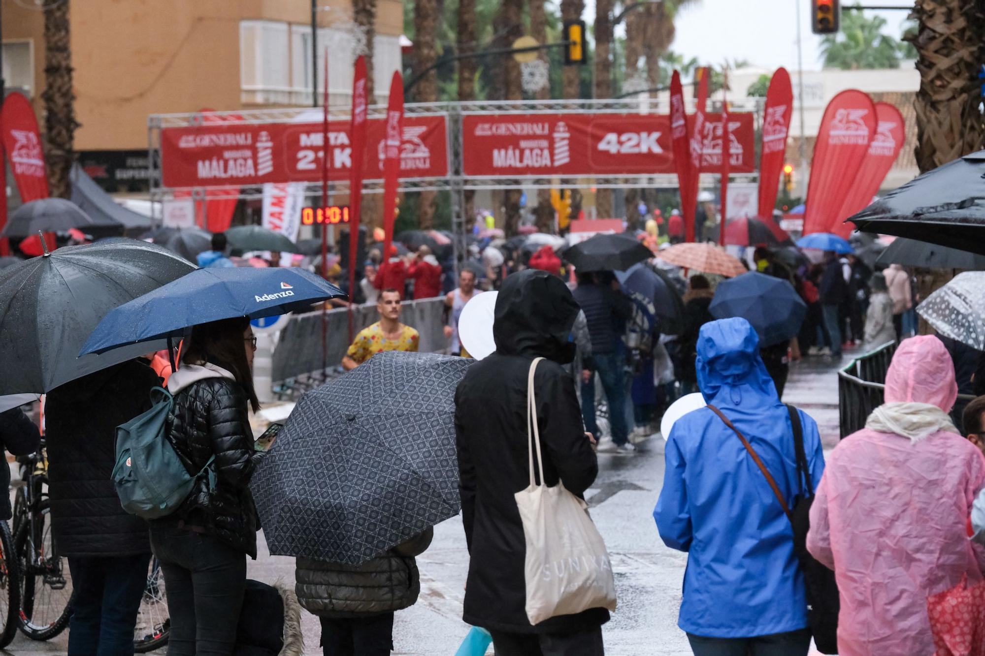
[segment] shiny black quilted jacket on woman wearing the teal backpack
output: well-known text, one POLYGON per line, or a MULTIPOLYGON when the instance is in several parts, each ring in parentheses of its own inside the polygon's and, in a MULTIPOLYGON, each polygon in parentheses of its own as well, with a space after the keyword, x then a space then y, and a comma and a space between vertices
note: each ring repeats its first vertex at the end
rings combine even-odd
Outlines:
POLYGON ((261 454, 253 449, 242 387, 229 378, 206 378, 180 390, 167 437, 193 474, 216 456, 216 489, 210 491, 202 474, 181 507, 156 521, 183 520, 256 558, 258 521, 249 480, 261 454))

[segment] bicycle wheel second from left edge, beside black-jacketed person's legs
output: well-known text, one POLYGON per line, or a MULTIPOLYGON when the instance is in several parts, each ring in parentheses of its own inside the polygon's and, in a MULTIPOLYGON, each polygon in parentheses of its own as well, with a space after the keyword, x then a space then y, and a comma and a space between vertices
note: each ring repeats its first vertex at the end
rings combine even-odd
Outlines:
POLYGON ((72 615, 72 576, 68 561, 51 547, 51 513, 41 499, 33 517, 21 522, 14 536, 21 573, 21 632, 48 640, 65 630, 72 615))

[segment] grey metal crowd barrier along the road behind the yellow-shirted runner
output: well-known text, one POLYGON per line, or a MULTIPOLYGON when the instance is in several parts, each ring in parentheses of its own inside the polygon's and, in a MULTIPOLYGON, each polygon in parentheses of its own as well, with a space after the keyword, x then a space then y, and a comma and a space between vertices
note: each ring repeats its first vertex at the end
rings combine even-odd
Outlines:
MULTIPOLYGON (((403 303, 400 320, 421 334, 420 350, 427 353, 446 352, 449 344, 444 336, 444 296, 407 300, 403 303)), ((281 330, 274 346, 271 377, 274 393, 282 399, 294 399, 304 391, 321 385, 339 375, 342 358, 349 349, 349 310, 340 307, 325 314, 325 357, 322 357, 322 311, 305 312, 291 317, 281 330)), ((359 305, 353 308, 353 329, 358 333, 379 320, 376 306, 359 305)))

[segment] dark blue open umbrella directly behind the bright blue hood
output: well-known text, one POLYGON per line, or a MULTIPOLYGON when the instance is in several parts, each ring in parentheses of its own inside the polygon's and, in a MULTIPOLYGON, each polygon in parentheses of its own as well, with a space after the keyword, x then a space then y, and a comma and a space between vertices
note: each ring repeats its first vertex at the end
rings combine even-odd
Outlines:
POLYGON ((743 317, 758 333, 759 346, 767 347, 800 332, 807 304, 787 281, 747 273, 719 283, 708 310, 716 319, 743 317))

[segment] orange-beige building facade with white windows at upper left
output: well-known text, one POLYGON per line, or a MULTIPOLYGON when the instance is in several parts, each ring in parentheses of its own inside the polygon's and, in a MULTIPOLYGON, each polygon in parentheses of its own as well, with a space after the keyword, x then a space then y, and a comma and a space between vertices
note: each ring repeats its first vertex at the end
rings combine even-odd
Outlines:
MULTIPOLYGON (((111 178, 128 164, 137 164, 136 171, 141 166, 133 160, 141 151, 146 168, 149 114, 311 104, 310 0, 70 1, 81 123, 75 146, 83 165, 110 190, 126 189, 113 189, 114 181, 100 179, 100 172, 111 178)), ((32 99, 43 129, 43 13, 33 0, 0 3, 7 90, 32 99)), ((368 44, 348 0, 317 0, 317 6, 318 94, 327 46, 331 101, 348 102, 355 52, 368 44)), ((403 5, 377 0, 376 8, 374 91, 385 101, 390 77, 401 67, 403 5)))

